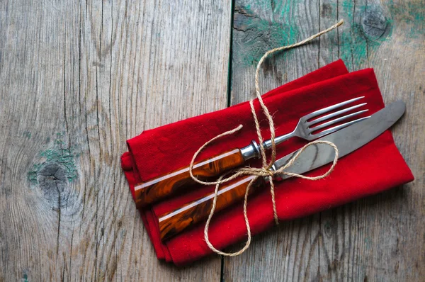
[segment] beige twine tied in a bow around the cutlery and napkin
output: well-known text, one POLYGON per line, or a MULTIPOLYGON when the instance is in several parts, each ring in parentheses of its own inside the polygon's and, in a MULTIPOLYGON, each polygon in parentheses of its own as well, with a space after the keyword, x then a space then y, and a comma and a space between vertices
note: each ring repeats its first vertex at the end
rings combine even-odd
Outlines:
POLYGON ((241 130, 243 125, 239 125, 237 128, 223 132, 222 134, 213 137, 211 140, 209 140, 204 145, 202 145, 198 149, 198 151, 196 151, 195 154, 193 154, 191 164, 190 164, 190 167, 189 167, 189 174, 191 174, 191 178, 194 181, 198 182, 199 184, 215 185, 215 192, 214 192, 214 198, 213 198, 213 201, 212 201, 212 207, 211 207, 211 210, 210 210, 210 215, 208 216, 208 220, 205 223, 205 229, 204 229, 205 242, 208 244, 208 247, 210 247, 210 249, 213 252, 215 252, 217 254, 221 254, 223 256, 238 256, 239 254, 242 254, 243 252, 246 251, 246 249, 249 248, 249 245, 251 244, 251 227, 249 227, 249 220, 248 220, 248 215, 246 213, 246 206, 248 204, 249 188, 251 188, 251 185, 254 184, 254 182, 259 177, 266 178, 268 180, 269 184, 270 184, 271 201, 272 201, 272 205, 273 205, 273 217, 274 217, 274 220, 276 222, 276 225, 278 225, 279 224, 278 213, 277 213, 277 210, 276 210, 276 200, 275 200, 275 192, 274 192, 274 184, 273 184, 273 176, 275 174, 280 174, 280 175, 285 174, 285 175, 288 175, 288 176, 294 176, 294 177, 298 177, 298 178, 301 178, 301 179, 308 179, 308 180, 314 181, 314 180, 323 179, 324 177, 329 176, 329 174, 331 174, 331 172, 334 170, 334 167, 336 166, 336 162, 338 161, 338 157, 339 157, 338 148, 332 142, 319 141, 319 140, 310 142, 307 145, 305 145, 304 147, 302 147, 300 150, 298 150, 297 154, 295 154, 295 156, 292 159, 290 159, 288 164, 285 164, 284 167, 280 167, 280 169, 277 169, 276 171, 270 170, 270 168, 276 162, 276 143, 275 143, 276 133, 275 133, 275 128, 274 128, 273 118, 272 118, 271 114, 269 113, 268 108, 264 104, 263 98, 261 97, 261 94, 260 94, 259 72, 260 72, 260 69, 261 69, 261 64, 263 64, 263 61, 266 60, 266 57, 268 57, 268 55, 271 55, 274 52, 278 52, 278 51, 281 51, 281 50, 288 50, 288 49, 293 48, 293 47, 304 45, 305 43, 310 42, 314 38, 317 38, 320 35, 323 35, 324 33, 327 33, 330 30, 333 30, 334 28, 341 26, 343 23, 344 23, 344 21, 341 20, 338 23, 336 23, 334 26, 331 26, 330 28, 327 28, 326 30, 322 30, 321 32, 319 32, 317 34, 310 36, 310 38, 302 40, 302 41, 295 43, 293 45, 282 46, 282 47, 275 48, 273 50, 269 50, 259 60, 259 63, 257 64, 257 67, 256 67, 256 73, 255 73, 255 92, 256 92, 256 98, 258 99, 258 101, 260 103, 261 109, 263 110, 263 113, 264 113, 264 115, 266 115, 266 118, 268 120, 268 127, 269 127, 270 133, 271 133, 271 138, 270 138, 271 139, 271 160, 270 160, 270 162, 267 163, 266 150, 264 149, 263 137, 261 136, 261 129, 260 129, 260 125, 259 125, 259 120, 258 120, 258 117, 256 115, 255 108, 254 108, 254 100, 249 101, 249 106, 251 106, 251 113, 252 113, 252 116, 254 118, 256 134, 257 134, 257 137, 259 138, 259 147, 260 147, 260 155, 261 155, 261 162, 262 162, 261 168, 244 167, 244 168, 241 168, 241 169, 237 169, 235 171, 235 173, 232 174, 232 176, 225 178, 225 176, 227 174, 229 174, 229 172, 227 172, 225 174, 222 174, 222 176, 220 176, 217 179, 217 181, 212 181, 212 182, 200 181, 195 176, 193 176, 193 171, 192 171, 193 170, 193 164, 195 162, 196 157, 200 153, 200 151, 202 151, 203 148, 208 146, 211 142, 214 142, 215 140, 219 139, 220 137, 223 137, 223 136, 226 136, 226 135, 232 135, 235 132, 241 130), (310 177, 310 176, 304 176, 302 174, 295 174, 295 173, 292 173, 292 172, 285 171, 285 169, 288 169, 288 167, 290 167, 294 164, 294 162, 297 160, 297 158, 300 157, 300 154, 305 149, 307 149, 307 147, 310 147, 311 145, 316 145, 316 144, 326 144, 326 145, 329 145, 329 146, 334 148, 334 151, 335 151, 334 162, 332 162, 332 165, 327 172, 325 172, 324 174, 319 175, 319 176, 310 177), (254 176, 253 179, 251 179, 251 181, 249 181, 248 186, 246 186, 246 191, 245 191, 245 196, 244 196, 244 219, 245 219, 245 225, 246 225, 247 239, 246 239, 245 246, 242 249, 240 249, 238 252, 225 253, 225 252, 220 251, 219 249, 215 249, 215 247, 211 244, 210 239, 208 237, 208 228, 210 226, 210 221, 212 219, 212 215, 214 215, 215 206, 217 204, 218 188, 220 187, 220 184, 224 184, 228 181, 232 181, 233 179, 236 179, 239 176, 244 176, 244 175, 254 176))

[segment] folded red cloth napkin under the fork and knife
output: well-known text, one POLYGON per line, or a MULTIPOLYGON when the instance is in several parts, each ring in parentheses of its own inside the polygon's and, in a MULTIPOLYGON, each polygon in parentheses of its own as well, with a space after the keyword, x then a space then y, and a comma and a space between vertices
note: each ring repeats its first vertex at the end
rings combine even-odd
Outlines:
MULTIPOLYGON (((273 89, 264 94, 263 100, 273 114, 276 135, 282 135, 292 131, 302 115, 358 96, 365 96, 368 114, 384 107, 373 69, 348 73, 344 62, 339 60, 273 89)), ((258 101, 254 104, 259 119, 265 120, 258 101)), ((123 154, 122 167, 133 195, 135 184, 188 165, 201 145, 239 124, 244 125, 242 130, 205 148, 198 157, 203 159, 235 147, 243 147, 250 140, 256 140, 249 103, 240 103, 221 111, 145 130, 141 135, 128 140, 129 152, 123 154)), ((270 137, 268 124, 263 122, 261 125, 263 137, 270 137)), ((278 145, 278 157, 283 157, 306 143, 300 138, 288 140, 278 145)), ((259 160, 250 164, 259 165, 259 160)), ((329 166, 311 171, 307 175, 319 175, 327 169, 329 166)), ((334 171, 325 179, 309 181, 293 178, 276 182, 278 217, 279 220, 300 218, 413 179, 412 172, 395 147, 390 130, 387 130, 356 152, 340 159, 334 171)), ((162 243, 159 240, 157 218, 183 203, 213 191, 213 188, 193 186, 187 193, 140 210, 158 259, 182 265, 211 253, 203 237, 203 224, 162 243)), ((268 188, 249 198, 248 217, 254 235, 273 226, 273 208, 268 188)), ((246 227, 242 203, 214 215, 209 234, 210 241, 217 249, 244 241, 246 227)))

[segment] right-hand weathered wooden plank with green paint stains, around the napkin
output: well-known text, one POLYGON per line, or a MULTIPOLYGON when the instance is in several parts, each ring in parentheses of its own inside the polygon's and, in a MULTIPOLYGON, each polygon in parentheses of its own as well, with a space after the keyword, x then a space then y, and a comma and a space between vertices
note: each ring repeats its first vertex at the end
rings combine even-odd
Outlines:
POLYGON ((263 52, 346 22, 309 45, 266 62, 263 92, 342 58, 350 71, 373 67, 385 102, 402 99, 392 128, 416 180, 254 237, 225 258, 225 281, 423 281, 425 277, 425 49, 423 1, 237 0, 232 103, 254 97, 263 52))

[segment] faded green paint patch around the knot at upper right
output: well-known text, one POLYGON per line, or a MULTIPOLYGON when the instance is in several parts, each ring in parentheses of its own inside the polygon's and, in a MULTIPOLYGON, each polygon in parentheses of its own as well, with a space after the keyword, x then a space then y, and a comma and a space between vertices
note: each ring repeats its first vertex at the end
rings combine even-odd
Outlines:
MULTIPOLYGON (((412 39, 423 37, 425 8, 420 1, 406 1, 394 3, 390 0, 380 5, 355 5, 353 1, 345 0, 339 6, 339 14, 344 18, 346 24, 350 25, 349 30, 343 29, 339 33, 340 57, 348 69, 354 70, 362 66, 373 52, 378 50, 386 40, 390 40, 393 29, 399 28, 407 39, 407 44, 412 43, 412 39), (371 20, 369 26, 380 23, 382 35, 371 36, 365 29, 365 23, 371 20)), ((372 33, 376 34, 376 33, 372 33)), ((417 41, 416 41, 417 42, 417 41)))

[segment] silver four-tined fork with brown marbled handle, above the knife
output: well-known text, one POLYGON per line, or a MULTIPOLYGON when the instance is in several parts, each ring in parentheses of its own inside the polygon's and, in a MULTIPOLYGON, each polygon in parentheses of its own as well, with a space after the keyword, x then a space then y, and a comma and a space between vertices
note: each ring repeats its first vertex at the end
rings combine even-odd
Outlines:
MULTIPOLYGON (((358 103, 348 108, 342 108, 348 105, 349 103, 361 100, 362 98, 364 98, 364 96, 337 103, 335 105, 322 108, 318 111, 314 111, 312 113, 304 115, 298 121, 295 130, 288 134, 276 137, 275 144, 278 145, 290 139, 291 137, 300 137, 308 141, 315 140, 331 132, 346 128, 347 126, 364 120, 365 118, 369 118, 363 117, 358 118, 356 120, 350 120, 346 123, 341 123, 344 120, 351 119, 357 115, 361 115, 361 113, 365 113, 366 111, 368 111, 368 109, 364 109, 361 111, 356 111, 354 113, 348 113, 357 108, 365 106, 367 103, 358 103), (332 112, 339 108, 342 109, 339 111, 332 112), (344 113, 348 114, 343 115, 344 113), (331 118, 334 119, 331 120, 331 118), (331 125, 334 126, 329 128, 329 126, 331 125)), ((271 140, 264 141, 263 146, 266 149, 270 149, 271 140)), ((259 155, 259 145, 257 144, 257 142, 252 140, 249 145, 241 149, 237 148, 234 150, 229 150, 217 156, 210 157, 209 159, 204 159, 200 162, 196 162, 193 165, 192 172, 193 175, 196 176, 198 179, 206 180, 212 176, 218 176, 229 169, 239 167, 244 164, 244 162, 246 162, 248 159, 259 157, 259 155)), ((191 178, 191 175, 189 173, 189 167, 183 167, 176 171, 170 172, 169 174, 164 174, 163 176, 159 176, 147 182, 137 184, 135 186, 135 202, 137 208, 143 208, 146 205, 157 202, 163 198, 172 196, 178 191, 180 191, 183 186, 188 186, 194 183, 196 182, 193 181, 193 179, 191 178)))

